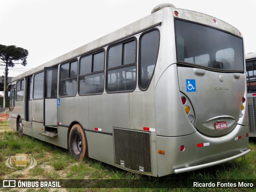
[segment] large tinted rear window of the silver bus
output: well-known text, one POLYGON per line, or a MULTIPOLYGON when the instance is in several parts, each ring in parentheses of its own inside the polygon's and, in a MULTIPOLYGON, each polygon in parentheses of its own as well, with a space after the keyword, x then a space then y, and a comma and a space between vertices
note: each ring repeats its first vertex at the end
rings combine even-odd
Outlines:
POLYGON ((178 62, 218 70, 244 71, 242 38, 177 19, 175 34, 178 62))

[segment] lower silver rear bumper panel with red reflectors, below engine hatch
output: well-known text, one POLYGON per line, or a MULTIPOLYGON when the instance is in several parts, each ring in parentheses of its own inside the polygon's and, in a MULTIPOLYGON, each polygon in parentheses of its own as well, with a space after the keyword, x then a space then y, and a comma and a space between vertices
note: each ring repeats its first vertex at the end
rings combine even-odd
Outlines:
POLYGON ((248 126, 237 124, 232 132, 220 137, 208 137, 198 131, 178 137, 156 136, 158 176, 241 154, 248 149, 247 133, 248 126))

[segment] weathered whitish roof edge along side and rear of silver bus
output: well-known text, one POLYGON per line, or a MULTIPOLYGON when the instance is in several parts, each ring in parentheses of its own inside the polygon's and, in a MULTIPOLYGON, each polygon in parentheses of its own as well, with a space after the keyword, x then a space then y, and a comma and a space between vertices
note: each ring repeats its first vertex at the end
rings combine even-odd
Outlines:
MULTIPOLYGON (((133 34, 142 32, 143 30, 146 30, 147 28, 152 28, 154 26, 161 25, 162 22, 164 22, 164 17, 163 17, 164 8, 172 9, 172 14, 176 18, 181 18, 184 20, 190 20, 192 22, 196 22, 196 23, 200 23, 200 24, 205 24, 208 26, 219 28, 221 30, 228 31, 236 36, 239 36, 239 33, 240 33, 239 30, 237 30, 236 28, 234 28, 233 26, 231 26, 230 24, 228 24, 222 20, 219 20, 219 19, 209 16, 207 14, 202 14, 202 13, 194 12, 194 11, 190 11, 190 10, 178 9, 178 8, 175 8, 175 6, 173 6, 172 4, 170 4, 170 5, 160 4, 152 10, 152 14, 150 14, 140 20, 137 20, 136 22, 133 22, 127 26, 124 26, 123 28, 120 28, 114 32, 111 32, 101 38, 98 38, 88 44, 85 44, 79 48, 76 48, 66 54, 63 54, 62 56, 59 56, 59 57, 52 59, 44 64, 41 64, 41 65, 33 68, 32 70, 24 72, 14 78, 12 78, 12 82, 19 80, 21 78, 27 77, 27 76, 31 76, 32 74, 35 74, 37 72, 40 72, 40 71, 44 70, 44 67, 56 66, 60 63, 63 63, 65 61, 68 61, 68 60, 71 60, 78 56, 81 56, 82 54, 85 54, 87 52, 107 46, 108 44, 111 44, 113 42, 121 40, 122 38, 126 38, 128 36, 132 36, 133 34), (153 12, 153 10, 158 9, 157 7, 160 7, 160 9, 153 12), (174 11, 178 11, 178 16, 175 15, 174 11)), ((240 37, 242 38, 241 34, 240 34, 240 37)))

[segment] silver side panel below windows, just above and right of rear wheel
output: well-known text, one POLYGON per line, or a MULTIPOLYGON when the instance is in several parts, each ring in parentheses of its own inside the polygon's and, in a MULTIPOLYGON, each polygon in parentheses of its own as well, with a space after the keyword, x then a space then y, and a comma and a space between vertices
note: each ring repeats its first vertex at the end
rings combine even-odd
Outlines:
POLYGON ((112 127, 130 128, 129 93, 89 96, 89 129, 112 133, 112 127))

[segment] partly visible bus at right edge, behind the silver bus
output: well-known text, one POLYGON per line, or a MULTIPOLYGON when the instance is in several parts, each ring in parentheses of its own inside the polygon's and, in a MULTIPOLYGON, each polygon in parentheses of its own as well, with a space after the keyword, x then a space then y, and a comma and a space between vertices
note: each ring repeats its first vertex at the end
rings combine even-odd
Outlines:
POLYGON ((256 137, 256 53, 245 55, 249 137, 256 137))

